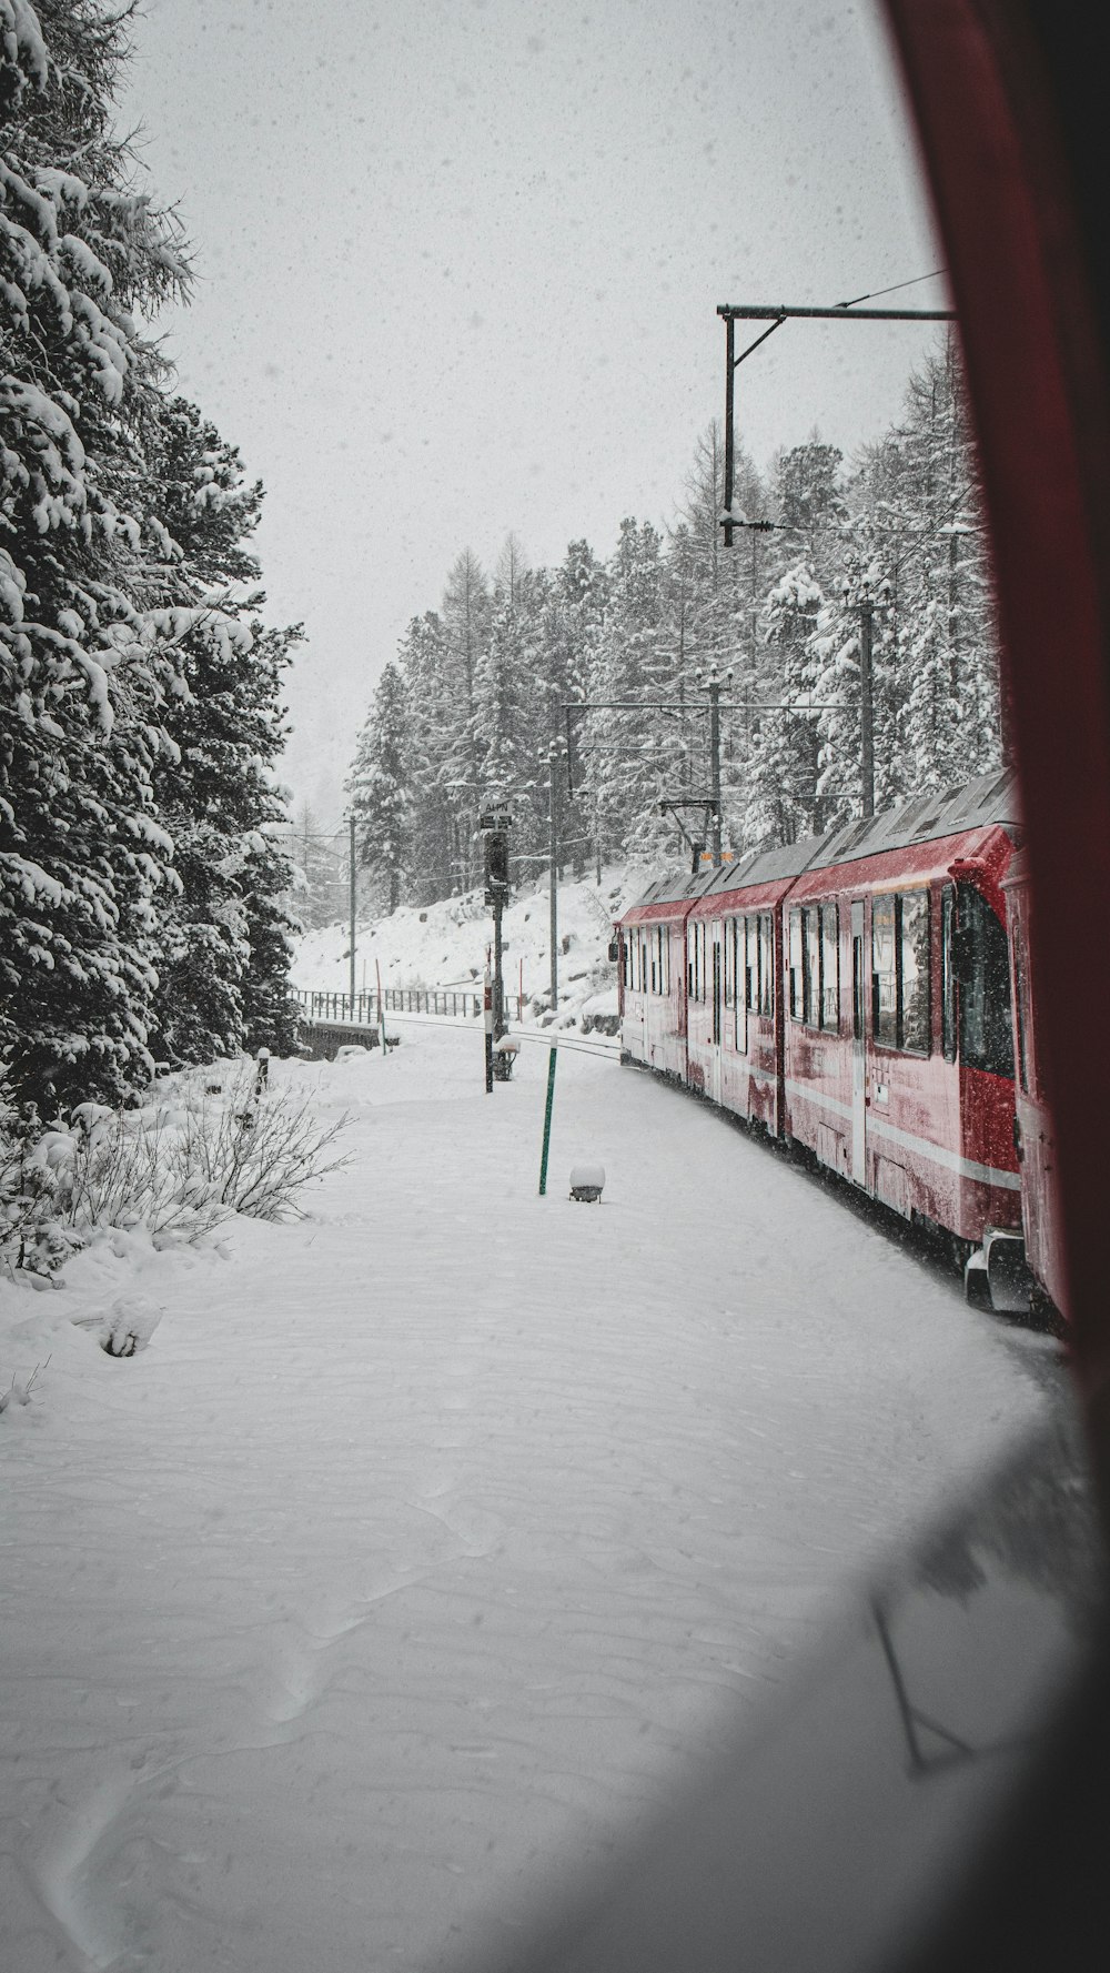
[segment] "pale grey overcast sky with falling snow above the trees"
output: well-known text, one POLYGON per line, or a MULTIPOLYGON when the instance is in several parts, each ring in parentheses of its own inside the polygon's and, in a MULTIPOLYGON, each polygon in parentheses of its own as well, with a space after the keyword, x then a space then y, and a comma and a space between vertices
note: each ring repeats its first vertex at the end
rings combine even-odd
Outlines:
MULTIPOLYGON (((197 268, 168 349, 266 483, 268 616, 308 631, 286 775, 327 819, 459 548, 609 554, 623 515, 674 515, 724 404, 718 302, 938 266, 867 0, 144 12, 124 118, 197 268)), ((741 442, 765 464, 816 424, 850 452, 929 339, 789 324, 739 371, 741 442)))

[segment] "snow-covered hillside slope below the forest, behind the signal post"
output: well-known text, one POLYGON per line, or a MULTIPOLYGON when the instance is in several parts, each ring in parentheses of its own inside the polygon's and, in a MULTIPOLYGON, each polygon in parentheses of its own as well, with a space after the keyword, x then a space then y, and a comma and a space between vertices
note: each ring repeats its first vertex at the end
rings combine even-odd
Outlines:
MULTIPOLYGON (((560 1026, 580 1022, 584 1012, 595 1016, 609 1004, 615 1010, 617 973, 607 957, 613 917, 655 874, 641 866, 619 864, 601 872, 601 884, 593 878, 560 884, 560 1026)), ((382 988, 481 990, 491 939, 493 919, 481 890, 444 898, 426 910, 400 906, 388 917, 359 923, 355 990, 373 992, 377 969, 382 988)), ((503 951, 511 1016, 540 1018, 550 1008, 550 892, 544 880, 513 898, 503 921, 503 951)), ((308 931, 300 941, 294 985, 308 992, 347 992, 349 955, 351 937, 345 921, 323 931, 308 931)))

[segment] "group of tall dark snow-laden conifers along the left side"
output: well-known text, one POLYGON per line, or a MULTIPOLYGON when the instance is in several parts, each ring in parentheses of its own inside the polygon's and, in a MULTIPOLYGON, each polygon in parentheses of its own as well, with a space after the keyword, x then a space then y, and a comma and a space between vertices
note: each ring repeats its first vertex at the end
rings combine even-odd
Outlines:
POLYGON ((114 120, 130 10, 0 0, 0 1060, 51 1115, 288 1048, 262 487, 173 391, 173 211, 114 120))

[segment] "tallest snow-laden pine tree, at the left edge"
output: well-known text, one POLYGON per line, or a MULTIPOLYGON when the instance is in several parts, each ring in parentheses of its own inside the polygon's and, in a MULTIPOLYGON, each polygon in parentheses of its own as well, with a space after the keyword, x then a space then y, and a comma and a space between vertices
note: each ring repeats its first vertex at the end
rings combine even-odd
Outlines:
POLYGON ((179 659, 144 620, 164 545, 132 489, 162 383, 140 324, 187 266, 110 130, 126 14, 4 0, 0 30, 0 1054, 51 1109, 150 1067, 179 659))

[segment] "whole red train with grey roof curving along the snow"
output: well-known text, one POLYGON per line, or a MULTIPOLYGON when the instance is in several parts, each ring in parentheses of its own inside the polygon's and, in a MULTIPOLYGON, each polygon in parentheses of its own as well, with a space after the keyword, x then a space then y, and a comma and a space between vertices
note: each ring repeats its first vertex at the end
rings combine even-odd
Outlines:
POLYGON ((982 1306, 1059 1304, 1027 912, 1007 773, 662 878, 617 925, 623 1060, 944 1229, 982 1306))

